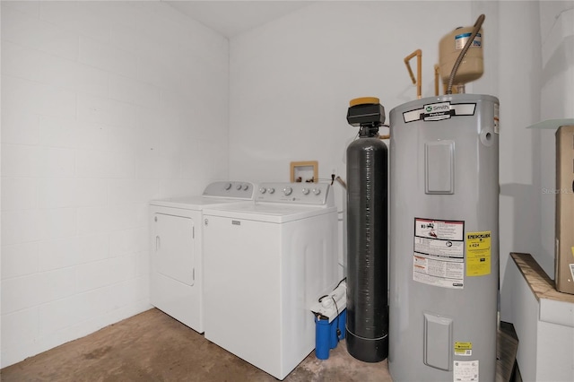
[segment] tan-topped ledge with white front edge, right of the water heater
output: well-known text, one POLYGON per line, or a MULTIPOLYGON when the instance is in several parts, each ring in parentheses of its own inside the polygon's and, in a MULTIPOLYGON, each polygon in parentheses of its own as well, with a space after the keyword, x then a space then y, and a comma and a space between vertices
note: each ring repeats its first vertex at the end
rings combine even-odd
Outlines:
POLYGON ((574 327, 574 294, 556 291, 554 282, 530 254, 511 253, 510 256, 539 302, 539 319, 574 327))

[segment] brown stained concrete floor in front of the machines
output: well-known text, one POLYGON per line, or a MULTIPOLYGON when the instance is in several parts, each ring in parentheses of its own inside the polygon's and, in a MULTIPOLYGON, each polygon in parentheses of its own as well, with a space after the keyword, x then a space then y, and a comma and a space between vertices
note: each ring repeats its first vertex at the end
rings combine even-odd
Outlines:
MULTIPOLYGON (((276 381, 274 377, 152 308, 0 370, 10 381, 276 381)), ((328 360, 315 352, 287 382, 387 382, 387 360, 355 360, 344 341, 328 360)))

